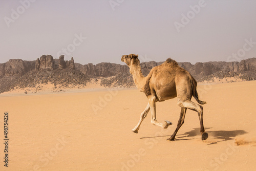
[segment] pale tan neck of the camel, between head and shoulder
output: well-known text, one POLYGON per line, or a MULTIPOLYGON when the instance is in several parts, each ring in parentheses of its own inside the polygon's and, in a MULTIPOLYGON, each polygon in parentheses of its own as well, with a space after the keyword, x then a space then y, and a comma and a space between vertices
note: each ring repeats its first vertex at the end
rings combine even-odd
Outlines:
POLYGON ((138 63, 135 65, 130 66, 130 73, 133 75, 133 81, 136 87, 141 91, 144 92, 144 86, 146 83, 146 77, 142 75, 140 64, 138 63))

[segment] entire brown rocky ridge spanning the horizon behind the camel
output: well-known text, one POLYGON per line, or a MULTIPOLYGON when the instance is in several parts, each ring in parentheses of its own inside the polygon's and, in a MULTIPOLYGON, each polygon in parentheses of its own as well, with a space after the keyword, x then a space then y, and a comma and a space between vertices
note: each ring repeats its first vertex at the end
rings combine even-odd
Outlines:
MULTIPOLYGON (((142 74, 146 76, 153 67, 161 63, 163 62, 142 62, 142 74)), ((239 76, 243 80, 256 79, 256 58, 240 62, 197 62, 195 65, 189 62, 178 62, 178 64, 189 71, 198 82, 211 80, 214 77, 222 79, 239 76)), ((35 61, 10 59, 6 63, 0 63, 0 93, 17 86, 33 86, 34 83, 42 82, 86 85, 90 78, 101 79, 100 84, 104 87, 134 86, 129 67, 116 63, 81 65, 74 63, 73 58, 65 61, 63 55, 58 59, 54 59, 51 55, 42 55, 35 61)))

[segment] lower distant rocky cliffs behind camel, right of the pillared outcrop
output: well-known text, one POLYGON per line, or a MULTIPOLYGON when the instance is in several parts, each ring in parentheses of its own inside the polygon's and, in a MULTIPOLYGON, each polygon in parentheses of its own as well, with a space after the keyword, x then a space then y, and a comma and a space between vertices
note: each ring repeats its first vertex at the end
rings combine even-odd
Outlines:
MULTIPOLYGON (((142 74, 146 76, 153 67, 161 65, 163 62, 142 62, 142 74)), ((225 77, 239 77, 243 80, 256 80, 256 58, 242 60, 241 62, 197 62, 195 65, 190 62, 178 62, 178 65, 187 70, 198 82, 211 81, 217 77, 223 79, 225 77)), ((113 65, 112 65, 113 66, 113 65)), ((121 65, 120 65, 121 66, 121 65)), ((114 66, 116 69, 120 66, 114 66)), ((91 66, 93 67, 93 66, 91 66)), ((127 66, 126 66, 127 67, 127 66)), ((123 70, 115 70, 109 65, 103 63, 100 71, 104 73, 112 73, 111 77, 103 78, 101 85, 105 87, 130 87, 135 86, 129 68, 123 70), (112 71, 112 72, 111 72, 112 71), (113 72, 114 71, 114 72, 113 72), (123 79, 125 77, 126 79, 123 79)), ((96 68, 96 73, 101 73, 96 68)))

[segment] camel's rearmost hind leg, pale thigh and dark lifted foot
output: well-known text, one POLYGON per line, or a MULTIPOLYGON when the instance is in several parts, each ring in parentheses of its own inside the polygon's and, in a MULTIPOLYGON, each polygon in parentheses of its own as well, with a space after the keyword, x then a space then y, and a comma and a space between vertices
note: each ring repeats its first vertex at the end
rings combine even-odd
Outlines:
POLYGON ((200 132, 202 134, 202 140, 206 140, 208 138, 208 134, 204 130, 203 106, 201 106, 197 103, 194 103, 191 100, 179 101, 178 104, 179 104, 179 106, 181 106, 181 108, 187 108, 187 109, 196 111, 198 113, 199 120, 200 120, 200 132))

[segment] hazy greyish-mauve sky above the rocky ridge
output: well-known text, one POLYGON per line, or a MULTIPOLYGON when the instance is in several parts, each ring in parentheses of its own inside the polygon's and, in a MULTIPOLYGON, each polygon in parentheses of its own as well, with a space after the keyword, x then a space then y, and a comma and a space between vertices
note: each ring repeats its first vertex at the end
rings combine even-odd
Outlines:
POLYGON ((0 1, 0 63, 44 54, 82 64, 256 57, 255 0, 0 1), (233 56, 232 56, 233 55, 233 56))

